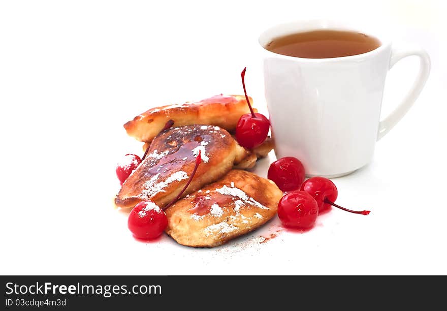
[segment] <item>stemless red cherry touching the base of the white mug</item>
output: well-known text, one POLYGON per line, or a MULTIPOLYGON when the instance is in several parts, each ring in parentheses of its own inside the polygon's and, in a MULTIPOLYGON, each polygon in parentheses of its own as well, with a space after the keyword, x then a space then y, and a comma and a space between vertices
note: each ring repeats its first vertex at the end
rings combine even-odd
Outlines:
POLYGON ((273 180, 283 192, 300 189, 304 181, 303 164, 294 157, 284 157, 270 164, 267 178, 273 180))

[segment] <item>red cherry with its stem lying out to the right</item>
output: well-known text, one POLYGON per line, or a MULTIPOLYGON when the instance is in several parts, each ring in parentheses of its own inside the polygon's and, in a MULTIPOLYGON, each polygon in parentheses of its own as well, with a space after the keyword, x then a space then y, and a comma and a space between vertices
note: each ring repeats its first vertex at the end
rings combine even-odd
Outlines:
POLYGON ((337 187, 331 180, 325 177, 312 177, 307 179, 301 185, 301 191, 307 192, 315 199, 320 213, 329 210, 331 205, 350 213, 362 215, 368 215, 370 213, 369 210, 351 210, 335 204, 334 202, 338 196, 337 187))

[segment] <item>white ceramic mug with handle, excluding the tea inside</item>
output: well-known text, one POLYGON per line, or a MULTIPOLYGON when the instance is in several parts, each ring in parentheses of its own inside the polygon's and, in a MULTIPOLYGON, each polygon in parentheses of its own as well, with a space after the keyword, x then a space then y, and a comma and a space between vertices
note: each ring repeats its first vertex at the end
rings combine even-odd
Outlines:
POLYGON ((398 49, 385 37, 337 22, 277 25, 266 30, 259 43, 276 157, 298 158, 308 176, 338 177, 368 164, 375 142, 405 115, 430 72, 430 58, 423 49, 398 49), (264 48, 274 38, 317 29, 362 32, 379 39, 381 45, 364 54, 336 58, 299 58, 264 48), (412 55, 421 60, 417 80, 403 102, 380 121, 387 72, 412 55))

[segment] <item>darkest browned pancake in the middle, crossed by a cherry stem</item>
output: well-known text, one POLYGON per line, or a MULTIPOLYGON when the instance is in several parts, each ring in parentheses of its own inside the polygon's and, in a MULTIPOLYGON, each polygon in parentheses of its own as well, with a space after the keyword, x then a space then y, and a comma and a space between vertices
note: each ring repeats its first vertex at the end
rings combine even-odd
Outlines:
POLYGON ((115 204, 127 208, 151 200, 163 208, 185 186, 199 150, 202 162, 183 196, 225 175, 241 151, 231 135, 217 126, 190 125, 163 131, 152 141, 146 158, 122 184, 115 204))

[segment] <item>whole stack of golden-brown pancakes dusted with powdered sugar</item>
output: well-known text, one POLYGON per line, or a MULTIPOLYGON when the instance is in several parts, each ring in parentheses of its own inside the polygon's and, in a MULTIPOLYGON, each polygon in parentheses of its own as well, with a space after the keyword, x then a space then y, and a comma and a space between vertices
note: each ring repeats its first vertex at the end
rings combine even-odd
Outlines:
POLYGON ((125 123, 127 134, 149 150, 122 184, 116 205, 132 208, 150 200, 163 208, 186 185, 200 150, 194 178, 182 198, 165 210, 166 232, 182 245, 213 247, 265 224, 276 214, 282 192, 271 180, 243 169, 265 157, 273 140, 251 150, 241 147, 231 133, 245 113, 244 96, 219 95, 155 107, 125 123), (173 127, 162 131, 168 120, 173 127))

